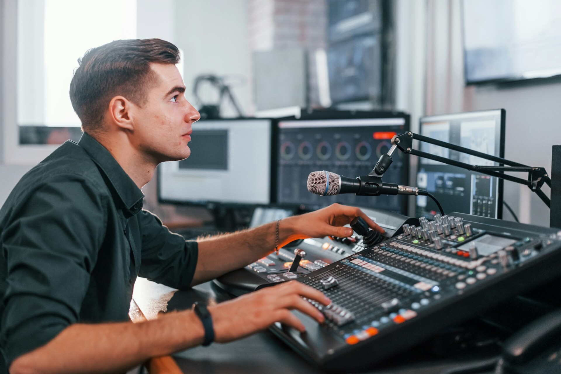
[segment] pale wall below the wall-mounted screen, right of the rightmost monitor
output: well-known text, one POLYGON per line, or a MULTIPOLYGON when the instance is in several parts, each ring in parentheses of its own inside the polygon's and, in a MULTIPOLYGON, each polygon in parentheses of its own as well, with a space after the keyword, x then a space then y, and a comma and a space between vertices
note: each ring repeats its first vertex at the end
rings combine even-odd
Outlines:
MULTIPOLYGON (((561 144, 561 84, 523 82, 476 87, 470 110, 507 110, 505 158, 551 173, 551 146, 561 144)), ((527 173, 513 174, 527 178, 527 173)), ((504 200, 522 222, 549 226, 549 209, 530 188, 505 181, 504 200)), ((544 191, 549 195, 549 188, 544 191)), ((509 213, 504 212, 509 218, 509 213)))

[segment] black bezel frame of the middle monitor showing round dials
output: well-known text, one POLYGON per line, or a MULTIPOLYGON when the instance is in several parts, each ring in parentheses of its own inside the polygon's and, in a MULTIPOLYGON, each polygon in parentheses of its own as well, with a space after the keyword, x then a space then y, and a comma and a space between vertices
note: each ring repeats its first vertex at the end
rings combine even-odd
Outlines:
MULTIPOLYGON (((279 119, 277 119, 277 122, 275 123, 275 130, 274 130, 273 133, 274 133, 275 140, 278 141, 278 137, 279 137, 279 133, 280 133, 279 123, 280 122, 285 122, 285 121, 325 121, 325 120, 341 120, 341 119, 384 119, 384 118, 403 118, 405 120, 405 123, 403 124, 403 127, 404 127, 403 132, 408 132, 411 129, 411 116, 410 116, 410 114, 404 113, 404 112, 394 112, 394 111, 357 112, 357 111, 354 111, 354 110, 331 110, 331 109, 327 109, 327 110, 321 110, 321 111, 311 111, 311 112, 307 112, 307 113, 302 113, 302 116, 300 118, 295 118, 295 117, 279 118, 279 119)), ((274 155, 274 159, 275 159, 275 163, 276 163, 278 161, 278 157, 279 157, 278 144, 275 144, 274 150, 275 151, 273 152, 273 155, 274 155)), ((372 164, 373 169, 374 169, 374 166, 376 165, 377 161, 378 160, 373 160, 373 164, 372 164)), ((410 160, 407 156, 404 156, 402 158, 402 161, 403 161, 403 171, 402 171, 402 173, 403 173, 404 181, 408 181, 409 180, 410 160)), ((275 206, 283 207, 283 208, 286 208, 286 209, 296 209, 296 210, 302 211, 302 212, 318 209, 318 206, 315 206, 315 205, 280 203, 278 201, 278 173, 279 173, 278 164, 275 164, 274 168, 275 168, 275 173, 274 173, 275 174, 275 179, 274 179, 274 184, 271 184, 271 192, 272 192, 272 198, 274 199, 273 201, 274 201, 275 206)), ((388 182, 392 182, 392 181, 388 181, 388 182)), ((380 197, 378 196, 378 197, 372 197, 372 198, 380 198, 380 197)), ((365 207, 365 208, 375 209, 375 208, 371 208, 371 207, 365 207)), ((400 211, 398 213, 403 214, 403 215, 407 215, 407 209, 408 209, 408 199, 403 198, 402 199, 402 204, 401 204, 401 207, 400 207, 400 211)))

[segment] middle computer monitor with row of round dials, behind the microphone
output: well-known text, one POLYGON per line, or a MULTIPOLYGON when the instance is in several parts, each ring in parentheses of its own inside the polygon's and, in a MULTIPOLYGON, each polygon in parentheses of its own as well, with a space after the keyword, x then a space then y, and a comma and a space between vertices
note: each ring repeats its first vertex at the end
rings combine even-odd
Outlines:
MULTIPOLYGON (((347 118, 303 118, 278 122, 277 204, 302 210, 339 202, 341 204, 385 209, 405 214, 405 196, 356 196, 354 194, 319 196, 307 190, 311 172, 328 170, 346 177, 366 176, 380 155, 391 147, 396 134, 409 130, 410 116, 404 113, 370 113, 363 117, 351 113, 347 118)), ((394 153, 384 182, 407 184, 408 159, 394 153)))

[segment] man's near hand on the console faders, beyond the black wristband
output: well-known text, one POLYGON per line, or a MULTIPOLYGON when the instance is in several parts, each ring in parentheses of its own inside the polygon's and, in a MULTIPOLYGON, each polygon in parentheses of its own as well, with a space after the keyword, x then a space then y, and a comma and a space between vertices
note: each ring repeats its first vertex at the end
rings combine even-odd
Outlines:
POLYGON ((291 310, 298 310, 319 323, 323 322, 323 314, 302 297, 314 299, 324 305, 330 303, 320 291, 300 282, 290 281, 211 306, 208 309, 213 319, 214 340, 226 343, 241 339, 266 329, 274 322, 282 322, 298 331, 305 331, 304 325, 291 310))

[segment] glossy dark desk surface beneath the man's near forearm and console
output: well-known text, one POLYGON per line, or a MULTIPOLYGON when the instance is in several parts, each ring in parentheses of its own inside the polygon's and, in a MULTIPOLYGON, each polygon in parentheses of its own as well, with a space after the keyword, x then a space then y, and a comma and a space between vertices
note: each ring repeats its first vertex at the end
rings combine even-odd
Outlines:
MULTIPOLYGON (((229 295, 208 282, 190 290, 175 290, 139 278, 135 284, 134 301, 146 318, 156 318, 159 312, 185 310, 195 301, 208 304, 230 299, 229 295)), ((370 373, 377 374, 429 374, 442 373, 451 368, 473 363, 464 359, 407 359, 403 352, 380 364, 370 373)), ((178 366, 188 373, 323 373, 287 347, 269 331, 262 331, 245 339, 227 344, 211 344, 174 354, 178 366)))

